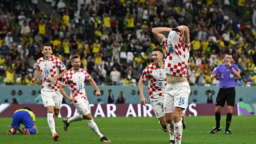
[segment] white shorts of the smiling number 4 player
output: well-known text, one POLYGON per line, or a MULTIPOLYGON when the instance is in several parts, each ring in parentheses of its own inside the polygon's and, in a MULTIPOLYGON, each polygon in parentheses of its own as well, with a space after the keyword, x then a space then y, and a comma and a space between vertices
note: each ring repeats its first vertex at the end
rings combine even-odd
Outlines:
POLYGON ((159 99, 159 100, 154 100, 154 101, 151 101, 151 107, 153 109, 153 111, 155 112, 155 115, 157 118, 160 118, 162 117, 164 114, 163 114, 163 101, 164 99, 159 99))

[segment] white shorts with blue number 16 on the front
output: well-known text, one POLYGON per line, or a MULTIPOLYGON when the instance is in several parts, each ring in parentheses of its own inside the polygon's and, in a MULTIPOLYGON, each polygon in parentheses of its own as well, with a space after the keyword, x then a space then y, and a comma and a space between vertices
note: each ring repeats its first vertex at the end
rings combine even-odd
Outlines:
POLYGON ((186 109, 190 87, 188 82, 167 83, 165 87, 164 113, 172 113, 173 107, 186 109))

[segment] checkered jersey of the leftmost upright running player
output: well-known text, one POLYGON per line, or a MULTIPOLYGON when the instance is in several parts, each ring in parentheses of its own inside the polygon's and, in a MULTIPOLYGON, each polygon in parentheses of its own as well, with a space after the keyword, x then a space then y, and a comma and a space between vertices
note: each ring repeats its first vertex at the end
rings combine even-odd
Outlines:
POLYGON ((63 70, 66 66, 62 61, 51 55, 49 60, 44 60, 44 57, 37 60, 37 68, 40 69, 42 74, 42 90, 44 91, 59 91, 60 80, 56 79, 52 82, 47 82, 47 78, 55 77, 59 75, 59 70, 63 70))

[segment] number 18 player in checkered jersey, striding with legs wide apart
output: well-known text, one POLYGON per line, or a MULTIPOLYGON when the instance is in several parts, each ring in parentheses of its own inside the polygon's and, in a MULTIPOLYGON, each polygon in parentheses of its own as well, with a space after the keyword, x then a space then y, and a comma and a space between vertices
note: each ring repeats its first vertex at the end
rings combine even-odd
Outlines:
POLYGON ((68 130, 70 123, 75 121, 81 121, 86 119, 89 127, 98 135, 101 142, 110 142, 109 139, 104 137, 99 131, 98 126, 93 121, 93 116, 90 113, 89 102, 87 100, 87 94, 85 92, 85 80, 88 80, 90 84, 95 88, 96 96, 100 96, 100 90, 91 76, 83 68, 80 68, 81 61, 78 55, 73 55, 71 57, 71 69, 67 71, 62 77, 60 92, 71 101, 72 105, 77 109, 79 114, 70 117, 69 119, 63 119, 64 130, 68 130), (68 84, 69 89, 71 90, 70 97, 65 92, 65 87, 68 84))

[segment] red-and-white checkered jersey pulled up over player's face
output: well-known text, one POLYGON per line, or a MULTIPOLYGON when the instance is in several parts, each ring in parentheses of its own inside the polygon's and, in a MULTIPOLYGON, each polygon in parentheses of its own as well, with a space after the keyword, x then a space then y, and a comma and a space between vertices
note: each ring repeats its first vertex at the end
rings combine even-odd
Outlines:
POLYGON ((170 31, 168 39, 163 37, 161 45, 165 47, 165 73, 187 77, 190 41, 185 44, 180 32, 170 31))

